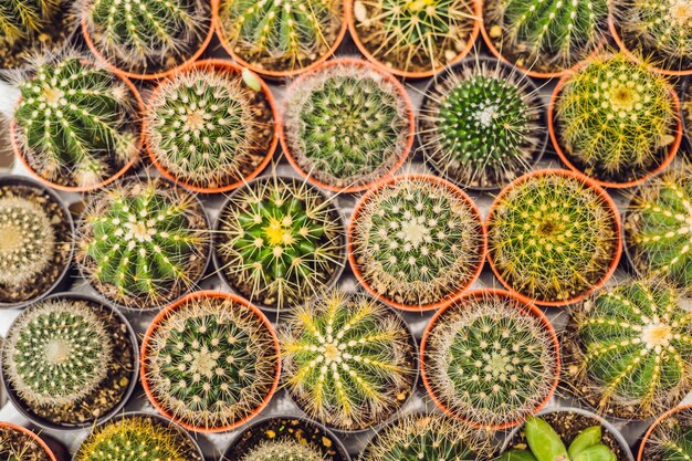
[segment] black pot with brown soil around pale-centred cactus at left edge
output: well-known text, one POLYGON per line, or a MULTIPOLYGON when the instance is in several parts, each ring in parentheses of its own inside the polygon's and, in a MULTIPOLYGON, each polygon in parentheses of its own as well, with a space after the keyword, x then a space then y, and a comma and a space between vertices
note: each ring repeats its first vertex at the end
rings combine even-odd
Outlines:
POLYGON ((57 218, 57 222, 51 222, 54 239, 65 239, 65 241, 53 243, 51 260, 46 261, 46 266, 38 274, 32 275, 29 281, 30 286, 20 290, 18 286, 0 284, 0 310, 20 308, 50 293, 66 290, 72 283, 70 273, 74 256, 72 214, 57 193, 31 178, 3 176, 0 177, 0 199, 6 196, 25 196, 28 199, 38 200, 41 208, 50 213, 49 218, 57 218), (8 190, 12 189, 14 191, 8 193, 8 190), (46 207, 49 207, 48 210, 46 207))

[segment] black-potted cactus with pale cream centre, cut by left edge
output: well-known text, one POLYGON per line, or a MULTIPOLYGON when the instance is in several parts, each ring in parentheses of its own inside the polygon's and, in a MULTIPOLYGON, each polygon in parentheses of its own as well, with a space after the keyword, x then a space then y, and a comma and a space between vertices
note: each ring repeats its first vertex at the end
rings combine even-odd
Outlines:
POLYGON ((60 197, 29 178, 0 178, 0 307, 20 307, 65 289, 72 217, 60 197))

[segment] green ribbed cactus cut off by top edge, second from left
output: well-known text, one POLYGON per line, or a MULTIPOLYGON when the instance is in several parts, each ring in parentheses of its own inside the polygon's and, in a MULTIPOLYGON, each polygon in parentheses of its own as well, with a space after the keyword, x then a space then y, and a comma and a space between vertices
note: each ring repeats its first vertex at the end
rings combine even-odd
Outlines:
POLYGON ((208 0, 87 0, 82 11, 93 50, 135 74, 167 72, 189 60, 210 15, 208 0))

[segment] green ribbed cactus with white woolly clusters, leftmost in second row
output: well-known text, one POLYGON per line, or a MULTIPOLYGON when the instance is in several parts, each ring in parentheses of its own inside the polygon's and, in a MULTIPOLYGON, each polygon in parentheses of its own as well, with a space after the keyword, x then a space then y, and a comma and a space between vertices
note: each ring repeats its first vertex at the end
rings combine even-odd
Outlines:
POLYGON ((135 97, 107 71, 74 55, 48 59, 19 88, 15 136, 42 178, 93 189, 137 157, 135 97))

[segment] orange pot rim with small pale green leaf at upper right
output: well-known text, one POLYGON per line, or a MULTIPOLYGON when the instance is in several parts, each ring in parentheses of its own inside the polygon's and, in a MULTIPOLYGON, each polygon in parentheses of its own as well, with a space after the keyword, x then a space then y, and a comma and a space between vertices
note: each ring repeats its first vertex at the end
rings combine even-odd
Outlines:
MULTIPOLYGON (((154 92, 151 93, 151 95, 149 96, 148 101, 151 102, 154 99, 154 97, 160 92, 161 90, 161 85, 170 82, 170 80, 175 78, 176 75, 178 74, 184 74, 186 72, 190 72, 193 70, 201 70, 201 71, 213 71, 213 72, 223 72, 223 73, 229 73, 229 74, 235 74, 238 76, 241 75, 241 73, 243 72, 242 67, 238 66, 237 64, 230 62, 230 61, 224 61, 224 60, 205 60, 205 61, 198 61, 198 62, 193 62, 190 63, 184 67, 179 67, 174 70, 172 72, 168 73, 168 80, 161 81, 158 86, 154 90, 154 92)), ((166 167, 164 165, 161 165, 161 163, 158 160, 158 157, 155 153, 155 150, 151 147, 151 142, 149 139, 149 136, 147 135, 148 133, 148 117, 149 117, 149 113, 151 112, 150 107, 147 107, 146 109, 146 116, 143 118, 143 136, 146 138, 146 150, 147 154, 149 156, 149 159, 151 160, 151 163, 154 164, 154 166, 156 166, 156 168, 160 171, 160 174, 168 178, 170 181, 175 182, 175 184, 179 184, 180 186, 185 187, 186 189, 192 190, 195 192, 200 192, 200 193, 221 193, 221 192, 226 192, 232 189, 235 189, 240 186, 242 186, 243 184, 245 184, 247 181, 253 179, 254 177, 256 177, 259 174, 261 174, 264 168, 266 168, 266 165, 270 163, 270 160, 272 159, 272 156, 274 155, 274 151, 276 150, 276 145, 279 144, 279 135, 277 135, 277 130, 279 130, 279 121, 280 121, 280 115, 279 115, 279 111, 276 109, 276 103, 274 101, 274 96, 272 95, 271 90, 269 88, 269 86, 266 85, 266 83, 264 83, 264 81, 262 78, 260 78, 258 75, 253 76, 256 78, 256 81, 260 83, 260 86, 262 87, 262 94, 264 96, 264 99, 266 102, 266 104, 269 105, 270 109, 271 109, 271 116, 273 118, 272 121, 272 125, 274 127, 273 129, 273 135, 271 136, 271 140, 269 142, 269 147, 266 149, 266 151, 264 153, 264 157, 262 158, 262 160, 258 164, 256 168, 254 170, 252 170, 249 175, 245 175, 244 177, 240 178, 239 180, 237 180, 235 182, 232 184, 228 184, 228 185, 221 185, 219 187, 201 187, 198 185, 193 185, 190 184, 189 181, 186 181, 184 179, 179 179, 177 178, 172 172, 170 172, 169 170, 166 169, 166 167)))

